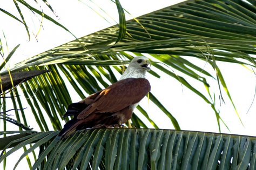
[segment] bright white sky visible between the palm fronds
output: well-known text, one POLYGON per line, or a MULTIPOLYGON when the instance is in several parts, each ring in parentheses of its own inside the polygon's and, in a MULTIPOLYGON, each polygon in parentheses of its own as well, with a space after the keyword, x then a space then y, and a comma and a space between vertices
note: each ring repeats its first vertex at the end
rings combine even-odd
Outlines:
MULTIPOLYGON (((18 12, 15 9, 14 4, 11 1, 0 0, 1 8, 6 11, 11 12, 18 17, 18 12)), ((83 1, 89 4, 92 8, 99 8, 89 1, 83 1)), ((89 33, 96 32, 107 28, 112 24, 118 22, 118 15, 116 7, 110 1, 94 1, 100 6, 109 16, 105 13, 100 12, 100 15, 107 17, 109 22, 106 22, 102 17, 97 15, 96 12, 92 11, 85 4, 78 1, 49 1, 52 8, 55 9, 59 17, 58 22, 66 26, 72 33, 77 37, 82 37, 88 35, 89 33), (103 4, 104 3, 104 4, 103 4), (61 5, 60 5, 61 4, 61 5), (114 18, 111 19, 111 17, 114 18)), ((175 4, 179 1, 120 1, 123 8, 129 11, 133 17, 149 13, 151 11, 164 8, 171 4, 175 4)), ((34 1, 31 1, 33 4, 34 1)), ((42 4, 42 6, 45 6, 42 4)), ((25 8, 22 8, 24 12, 25 8)), ((44 10, 45 13, 50 14, 51 17, 54 17, 52 13, 48 10, 44 10)), ((31 16, 31 12, 25 12, 28 25, 30 30, 37 33, 39 29, 39 20, 41 18, 36 18, 31 16)), ((17 44, 21 44, 15 55, 10 61, 10 66, 24 60, 25 58, 32 57, 38 53, 44 52, 46 50, 52 49, 52 47, 67 43, 73 40, 73 37, 66 32, 65 30, 59 28, 55 24, 52 24, 46 19, 43 21, 44 29, 39 32, 37 37, 38 42, 33 35, 31 34, 31 39, 28 41, 28 36, 22 24, 19 24, 14 19, 3 15, 0 12, 1 23, 6 23, 0 25, 0 31, 3 31, 8 42, 9 51, 11 51, 17 44), (5 21, 5 22, 4 22, 5 21)), ((20 17, 18 17, 20 18, 20 17)), ((127 19, 132 18, 129 15, 126 15, 127 19)), ((3 41, 3 35, 0 32, 0 38, 3 41)), ((186 58, 187 59, 187 58, 186 58)), ((189 58, 190 61, 196 62, 198 66, 205 67, 205 70, 214 75, 214 71, 210 65, 207 63, 198 61, 197 59, 189 58)), ((2 62, 0 60, 0 62, 2 62)), ((248 108, 250 107, 254 91, 255 91, 255 75, 253 72, 248 71, 241 65, 228 64, 228 63, 217 63, 222 71, 228 90, 230 90, 231 96, 233 98, 234 104, 237 107, 237 110, 240 114, 240 117, 244 123, 244 127, 240 124, 238 118, 235 115, 235 111, 227 98, 224 90, 224 99, 226 104, 221 104, 219 102, 219 90, 217 81, 213 79, 208 79, 208 83, 211 85, 211 92, 215 92, 216 96, 216 105, 220 110, 220 115, 230 128, 229 132, 223 125, 221 125, 221 130, 223 133, 233 133, 233 134, 244 134, 244 135, 256 135, 256 105, 253 103, 251 110, 246 114, 248 108)), ((154 70, 154 68, 152 68, 154 70)), ((156 71, 156 70, 154 70, 156 71)), ((178 72, 177 72, 178 73, 178 72)), ((218 125, 211 106, 206 104, 203 99, 198 97, 196 94, 188 90, 185 86, 182 86, 177 80, 170 78, 164 74, 161 75, 161 78, 155 78, 148 76, 151 83, 151 92, 158 97, 160 102, 169 110, 173 116, 178 120, 182 130, 192 130, 192 131, 208 131, 208 132, 218 132, 218 125)), ((191 80, 191 78, 188 78, 191 80)), ((193 82, 192 85, 200 87, 203 94, 206 94, 204 86, 193 82)), ((74 101, 80 100, 79 98, 74 99, 74 101)), ((150 117, 156 121, 159 128, 169 128, 172 129, 171 121, 166 117, 161 111, 159 111, 152 104, 147 103, 147 99, 144 98, 141 103, 149 113, 150 117)), ((26 106, 25 106, 26 107, 26 106)), ((29 106, 27 106, 29 107, 29 106)), ((27 110, 29 111, 29 110, 27 110)), ((31 114, 32 115, 32 114, 31 114)), ((32 119, 31 119, 32 120, 32 119)), ((29 122, 29 125, 32 126, 32 122, 29 122)), ((0 123, 0 131, 2 130, 2 125, 0 123)), ((10 129, 8 129, 10 130, 10 129)), ((21 155, 22 151, 17 155, 21 155)), ((30 157, 32 158, 32 157, 30 157)), ((10 159, 8 159, 9 161, 10 159)), ((11 161, 17 160, 17 157, 11 159, 11 161)), ((16 161, 15 161, 16 162, 16 161)), ((9 164, 7 169, 12 169, 14 165, 9 164)), ((26 160, 21 162, 19 167, 26 166, 26 160)), ((0 164, 2 167, 2 163, 0 164)))

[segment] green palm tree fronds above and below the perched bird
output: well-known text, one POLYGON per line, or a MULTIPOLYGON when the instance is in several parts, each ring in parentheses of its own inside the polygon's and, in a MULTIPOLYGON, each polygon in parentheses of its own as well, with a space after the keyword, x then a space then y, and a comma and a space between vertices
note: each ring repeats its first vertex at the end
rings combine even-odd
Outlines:
MULTIPOLYGON (((180 131, 178 121, 152 93, 149 99, 170 118, 176 131, 158 130, 144 108, 138 106, 139 112, 156 129, 148 129, 142 118, 133 114, 133 126, 143 128, 84 130, 66 140, 58 137, 62 115, 72 103, 66 82, 84 98, 84 91, 91 94, 117 81, 115 75, 122 73, 122 65, 129 63, 131 53, 133 56, 146 53, 152 59, 204 84, 208 96, 204 96, 185 78, 173 73, 169 67, 152 62, 156 69, 177 79, 210 104, 219 129, 223 120, 215 108, 215 99, 208 91, 206 80, 206 77, 213 76, 184 56, 208 62, 216 72, 219 86, 226 89, 232 103, 217 61, 255 67, 255 58, 250 56, 255 55, 256 44, 254 1, 186 1, 127 22, 122 6, 118 1, 116 4, 119 25, 55 47, 9 70, 1 67, 1 76, 7 77, 17 71, 51 71, 37 76, 37 79, 22 82, 19 85, 21 90, 17 90, 17 87, 10 92, 12 99, 17 98, 17 102, 12 100, 17 120, 6 115, 5 100, 2 100, 3 113, 0 115, 4 125, 10 121, 20 130, 0 132, 4 134, 0 138, 0 148, 3 150, 0 162, 23 147, 21 159, 39 148, 39 155, 34 153, 36 161, 31 165, 32 169, 254 169, 255 137, 180 131), (37 92, 33 93, 35 90, 37 92), (19 99, 21 91, 42 132, 32 131, 28 127, 28 118, 19 99), (21 112, 23 120, 18 112, 21 112), (45 117, 50 119, 54 131, 49 131, 45 117), (5 134, 14 135, 5 137, 5 134)), ((152 70, 150 73, 159 76, 152 70)), ((13 80, 9 82, 14 86, 13 80)))

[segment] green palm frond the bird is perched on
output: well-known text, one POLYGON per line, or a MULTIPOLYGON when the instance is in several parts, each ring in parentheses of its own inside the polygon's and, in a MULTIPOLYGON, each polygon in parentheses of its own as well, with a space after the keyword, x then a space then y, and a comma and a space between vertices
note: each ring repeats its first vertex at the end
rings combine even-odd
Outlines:
POLYGON ((0 162, 32 144, 15 165, 40 148, 32 169, 254 169, 256 152, 255 137, 132 128, 83 130, 65 140, 57 131, 28 131, 4 149, 13 144, 0 162))

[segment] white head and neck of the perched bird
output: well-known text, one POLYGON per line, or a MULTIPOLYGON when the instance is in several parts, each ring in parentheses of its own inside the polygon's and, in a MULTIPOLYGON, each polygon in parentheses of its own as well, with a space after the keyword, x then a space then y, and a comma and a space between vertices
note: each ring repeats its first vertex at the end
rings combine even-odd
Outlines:
POLYGON ((126 78, 145 78, 146 72, 150 70, 151 62, 144 56, 134 57, 119 80, 126 78))

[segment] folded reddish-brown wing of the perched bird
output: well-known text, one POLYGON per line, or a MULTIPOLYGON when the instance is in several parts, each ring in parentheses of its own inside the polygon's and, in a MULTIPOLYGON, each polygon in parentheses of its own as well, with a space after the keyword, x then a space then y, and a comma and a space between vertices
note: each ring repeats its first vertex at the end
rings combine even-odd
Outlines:
MULTIPOLYGON (((127 78, 117 81, 98 93, 94 101, 80 112, 77 119, 91 113, 113 113, 138 103, 150 92, 150 83, 145 78, 127 78)), ((85 99, 86 100, 86 99, 85 99)))

